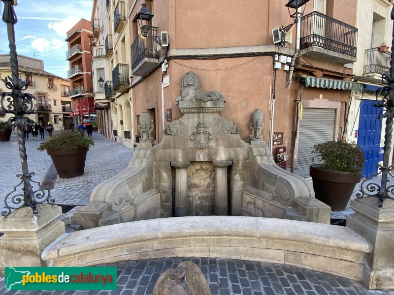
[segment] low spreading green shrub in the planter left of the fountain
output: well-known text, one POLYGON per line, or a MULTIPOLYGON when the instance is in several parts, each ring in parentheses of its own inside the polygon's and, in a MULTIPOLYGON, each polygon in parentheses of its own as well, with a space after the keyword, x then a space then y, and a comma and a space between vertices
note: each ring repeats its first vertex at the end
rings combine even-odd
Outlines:
POLYGON ((84 136, 77 130, 61 130, 38 146, 38 150, 54 150, 61 148, 62 151, 70 151, 76 148, 89 148, 95 143, 89 137, 84 136))

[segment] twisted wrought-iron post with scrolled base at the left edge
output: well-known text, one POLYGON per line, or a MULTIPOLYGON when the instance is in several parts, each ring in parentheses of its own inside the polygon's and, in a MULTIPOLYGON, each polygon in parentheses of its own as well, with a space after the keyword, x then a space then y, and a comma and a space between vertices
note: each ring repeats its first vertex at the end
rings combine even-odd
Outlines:
POLYGON ((4 204, 5 210, 1 212, 1 215, 7 216, 11 213, 11 210, 19 209, 21 207, 29 206, 33 209, 33 213, 37 214, 36 204, 48 202, 54 204, 55 200, 51 199, 50 191, 41 186, 39 182, 33 181, 32 177, 34 172, 29 172, 28 167, 28 156, 26 154, 26 146, 24 139, 24 131, 22 127, 26 124, 32 125, 28 120, 23 117, 24 115, 36 114, 38 109, 34 108, 33 100, 36 100, 33 94, 22 93, 22 90, 28 88, 29 81, 22 81, 19 78, 18 70, 18 59, 16 54, 15 46, 15 30, 14 25, 18 19, 14 11, 14 0, 1 0, 4 2, 3 7, 3 22, 7 24, 7 34, 10 49, 10 63, 11 63, 11 77, 2 79, 7 89, 11 92, 1 92, 0 105, 5 113, 14 114, 15 117, 8 119, 8 124, 17 127, 18 131, 18 146, 19 146, 19 157, 22 164, 22 174, 17 174, 16 177, 20 179, 19 184, 14 186, 14 190, 5 196, 4 204), (37 183, 38 189, 33 190, 31 182, 37 183), (16 188, 23 185, 22 193, 17 193, 16 188), (44 191, 46 190, 47 193, 44 191))

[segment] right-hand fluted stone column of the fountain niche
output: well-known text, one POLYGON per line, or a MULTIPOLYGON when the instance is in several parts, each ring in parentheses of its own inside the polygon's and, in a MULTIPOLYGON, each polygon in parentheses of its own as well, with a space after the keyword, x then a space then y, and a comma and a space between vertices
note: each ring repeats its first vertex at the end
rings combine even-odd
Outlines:
POLYGON ((232 161, 213 161, 216 170, 215 215, 228 215, 227 167, 232 161))

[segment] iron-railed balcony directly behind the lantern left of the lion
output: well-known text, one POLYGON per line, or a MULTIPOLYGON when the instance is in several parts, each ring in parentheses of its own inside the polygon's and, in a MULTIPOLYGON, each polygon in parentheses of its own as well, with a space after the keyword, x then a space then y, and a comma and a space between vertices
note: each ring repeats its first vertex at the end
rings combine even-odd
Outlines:
MULTIPOLYGON (((144 35, 156 36, 159 28, 143 26, 144 35)), ((159 63, 159 52, 156 42, 150 38, 141 38, 139 35, 131 45, 131 75, 144 76, 153 70, 159 63)))

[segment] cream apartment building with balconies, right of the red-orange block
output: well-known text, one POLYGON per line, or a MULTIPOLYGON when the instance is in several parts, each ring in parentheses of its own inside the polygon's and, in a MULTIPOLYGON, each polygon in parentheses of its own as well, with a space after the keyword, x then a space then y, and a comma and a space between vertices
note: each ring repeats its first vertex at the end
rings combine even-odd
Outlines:
POLYGON ((91 64, 99 132, 133 148, 128 12, 129 1, 98 0, 93 3, 91 64))

